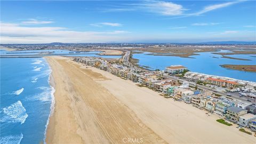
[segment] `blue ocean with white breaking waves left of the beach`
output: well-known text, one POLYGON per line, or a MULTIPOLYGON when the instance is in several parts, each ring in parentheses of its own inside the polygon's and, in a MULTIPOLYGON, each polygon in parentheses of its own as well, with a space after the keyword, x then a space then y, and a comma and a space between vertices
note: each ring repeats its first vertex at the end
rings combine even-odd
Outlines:
POLYGON ((54 103, 44 58, 1 58, 1 143, 43 143, 54 103))

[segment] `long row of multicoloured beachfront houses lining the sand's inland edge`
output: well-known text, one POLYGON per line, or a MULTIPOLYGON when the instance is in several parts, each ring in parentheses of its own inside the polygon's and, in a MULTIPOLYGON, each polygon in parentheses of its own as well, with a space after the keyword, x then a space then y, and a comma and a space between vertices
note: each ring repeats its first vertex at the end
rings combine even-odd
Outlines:
POLYGON ((252 103, 217 97, 212 91, 199 92, 191 89, 186 82, 180 85, 178 81, 163 79, 154 71, 148 72, 137 67, 126 67, 101 58, 85 57, 75 58, 74 60, 87 66, 108 71, 121 78, 130 79, 140 85, 149 87, 149 89, 182 100, 197 108, 205 109, 210 113, 226 118, 228 121, 250 127, 251 130, 256 131, 256 105, 252 105, 252 103))

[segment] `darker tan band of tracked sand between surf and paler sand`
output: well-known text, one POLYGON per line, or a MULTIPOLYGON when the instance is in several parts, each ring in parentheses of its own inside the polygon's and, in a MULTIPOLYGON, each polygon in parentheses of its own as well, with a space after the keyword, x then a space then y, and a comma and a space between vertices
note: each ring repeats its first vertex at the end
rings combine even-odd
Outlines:
POLYGON ((47 60, 55 82, 55 109, 47 129, 47 143, 123 143, 128 138, 165 143, 90 76, 98 81, 108 78, 60 57, 47 60))

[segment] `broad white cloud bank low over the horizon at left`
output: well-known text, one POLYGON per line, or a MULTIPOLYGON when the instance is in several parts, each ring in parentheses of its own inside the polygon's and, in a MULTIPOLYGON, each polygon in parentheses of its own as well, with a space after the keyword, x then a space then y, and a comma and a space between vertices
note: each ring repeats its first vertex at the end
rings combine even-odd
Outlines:
POLYGON ((129 39, 129 31, 74 31, 65 27, 28 27, 13 23, 0 23, 1 43, 89 43, 116 42, 129 39))

